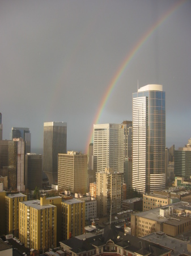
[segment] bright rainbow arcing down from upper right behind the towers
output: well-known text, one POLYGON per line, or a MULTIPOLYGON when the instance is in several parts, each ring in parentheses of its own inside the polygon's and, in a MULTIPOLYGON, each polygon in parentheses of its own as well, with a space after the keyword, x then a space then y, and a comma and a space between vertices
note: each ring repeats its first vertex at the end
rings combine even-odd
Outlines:
POLYGON ((122 76, 122 74, 124 73, 125 69, 128 67, 128 64, 130 63, 131 59, 133 59, 133 57, 135 56, 135 54, 138 52, 138 50, 143 46, 143 44, 148 40, 148 38, 150 38, 150 36, 155 32, 155 30, 174 12, 176 11, 183 3, 185 3, 188 0, 180 0, 178 2, 175 3, 175 5, 173 5, 169 10, 167 10, 162 18, 160 18, 159 20, 157 20, 152 26, 151 28, 146 32, 146 34, 144 34, 142 36, 142 38, 137 42, 137 44, 135 44, 135 46, 133 47, 133 49, 131 49, 131 51, 128 53, 128 55, 126 56, 125 60, 122 62, 122 64, 120 65, 120 68, 118 68, 116 75, 114 75, 113 79, 111 80, 111 83, 108 85, 107 89, 105 90, 105 93, 101 99, 99 108, 97 110, 97 113, 95 115, 94 118, 94 122, 92 123, 92 128, 91 128, 91 132, 90 135, 88 137, 88 141, 86 144, 86 154, 88 153, 88 147, 89 144, 93 141, 93 137, 94 137, 94 123, 97 123, 98 120, 100 119, 101 114, 103 113, 103 109, 105 107, 105 105, 107 104, 107 101, 109 99, 109 96, 111 95, 114 86, 116 86, 118 80, 120 80, 120 77, 122 76))

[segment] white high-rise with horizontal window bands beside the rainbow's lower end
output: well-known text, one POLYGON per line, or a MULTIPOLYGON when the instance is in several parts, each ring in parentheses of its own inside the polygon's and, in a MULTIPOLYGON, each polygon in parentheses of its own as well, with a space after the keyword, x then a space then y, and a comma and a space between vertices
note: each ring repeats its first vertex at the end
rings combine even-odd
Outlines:
POLYGON ((94 125, 94 170, 124 172, 124 125, 94 125))

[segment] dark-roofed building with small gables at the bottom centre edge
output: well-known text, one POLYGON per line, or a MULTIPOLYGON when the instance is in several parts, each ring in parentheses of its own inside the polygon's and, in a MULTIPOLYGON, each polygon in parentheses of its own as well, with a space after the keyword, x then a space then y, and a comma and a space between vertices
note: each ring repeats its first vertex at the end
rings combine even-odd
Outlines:
POLYGON ((107 226, 101 233, 86 233, 61 241, 60 246, 61 250, 65 251, 65 256, 168 256, 171 253, 171 250, 167 248, 133 237, 111 225, 107 226))

